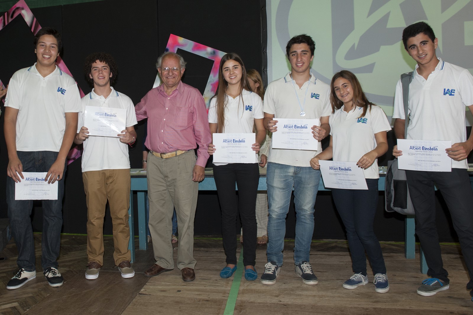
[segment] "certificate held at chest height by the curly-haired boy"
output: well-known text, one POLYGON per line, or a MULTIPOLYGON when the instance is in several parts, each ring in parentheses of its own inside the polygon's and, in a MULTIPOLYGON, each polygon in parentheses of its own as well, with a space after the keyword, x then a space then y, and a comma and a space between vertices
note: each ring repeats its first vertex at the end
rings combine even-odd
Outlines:
POLYGON ((126 109, 86 106, 84 127, 89 136, 115 137, 125 130, 126 109))

